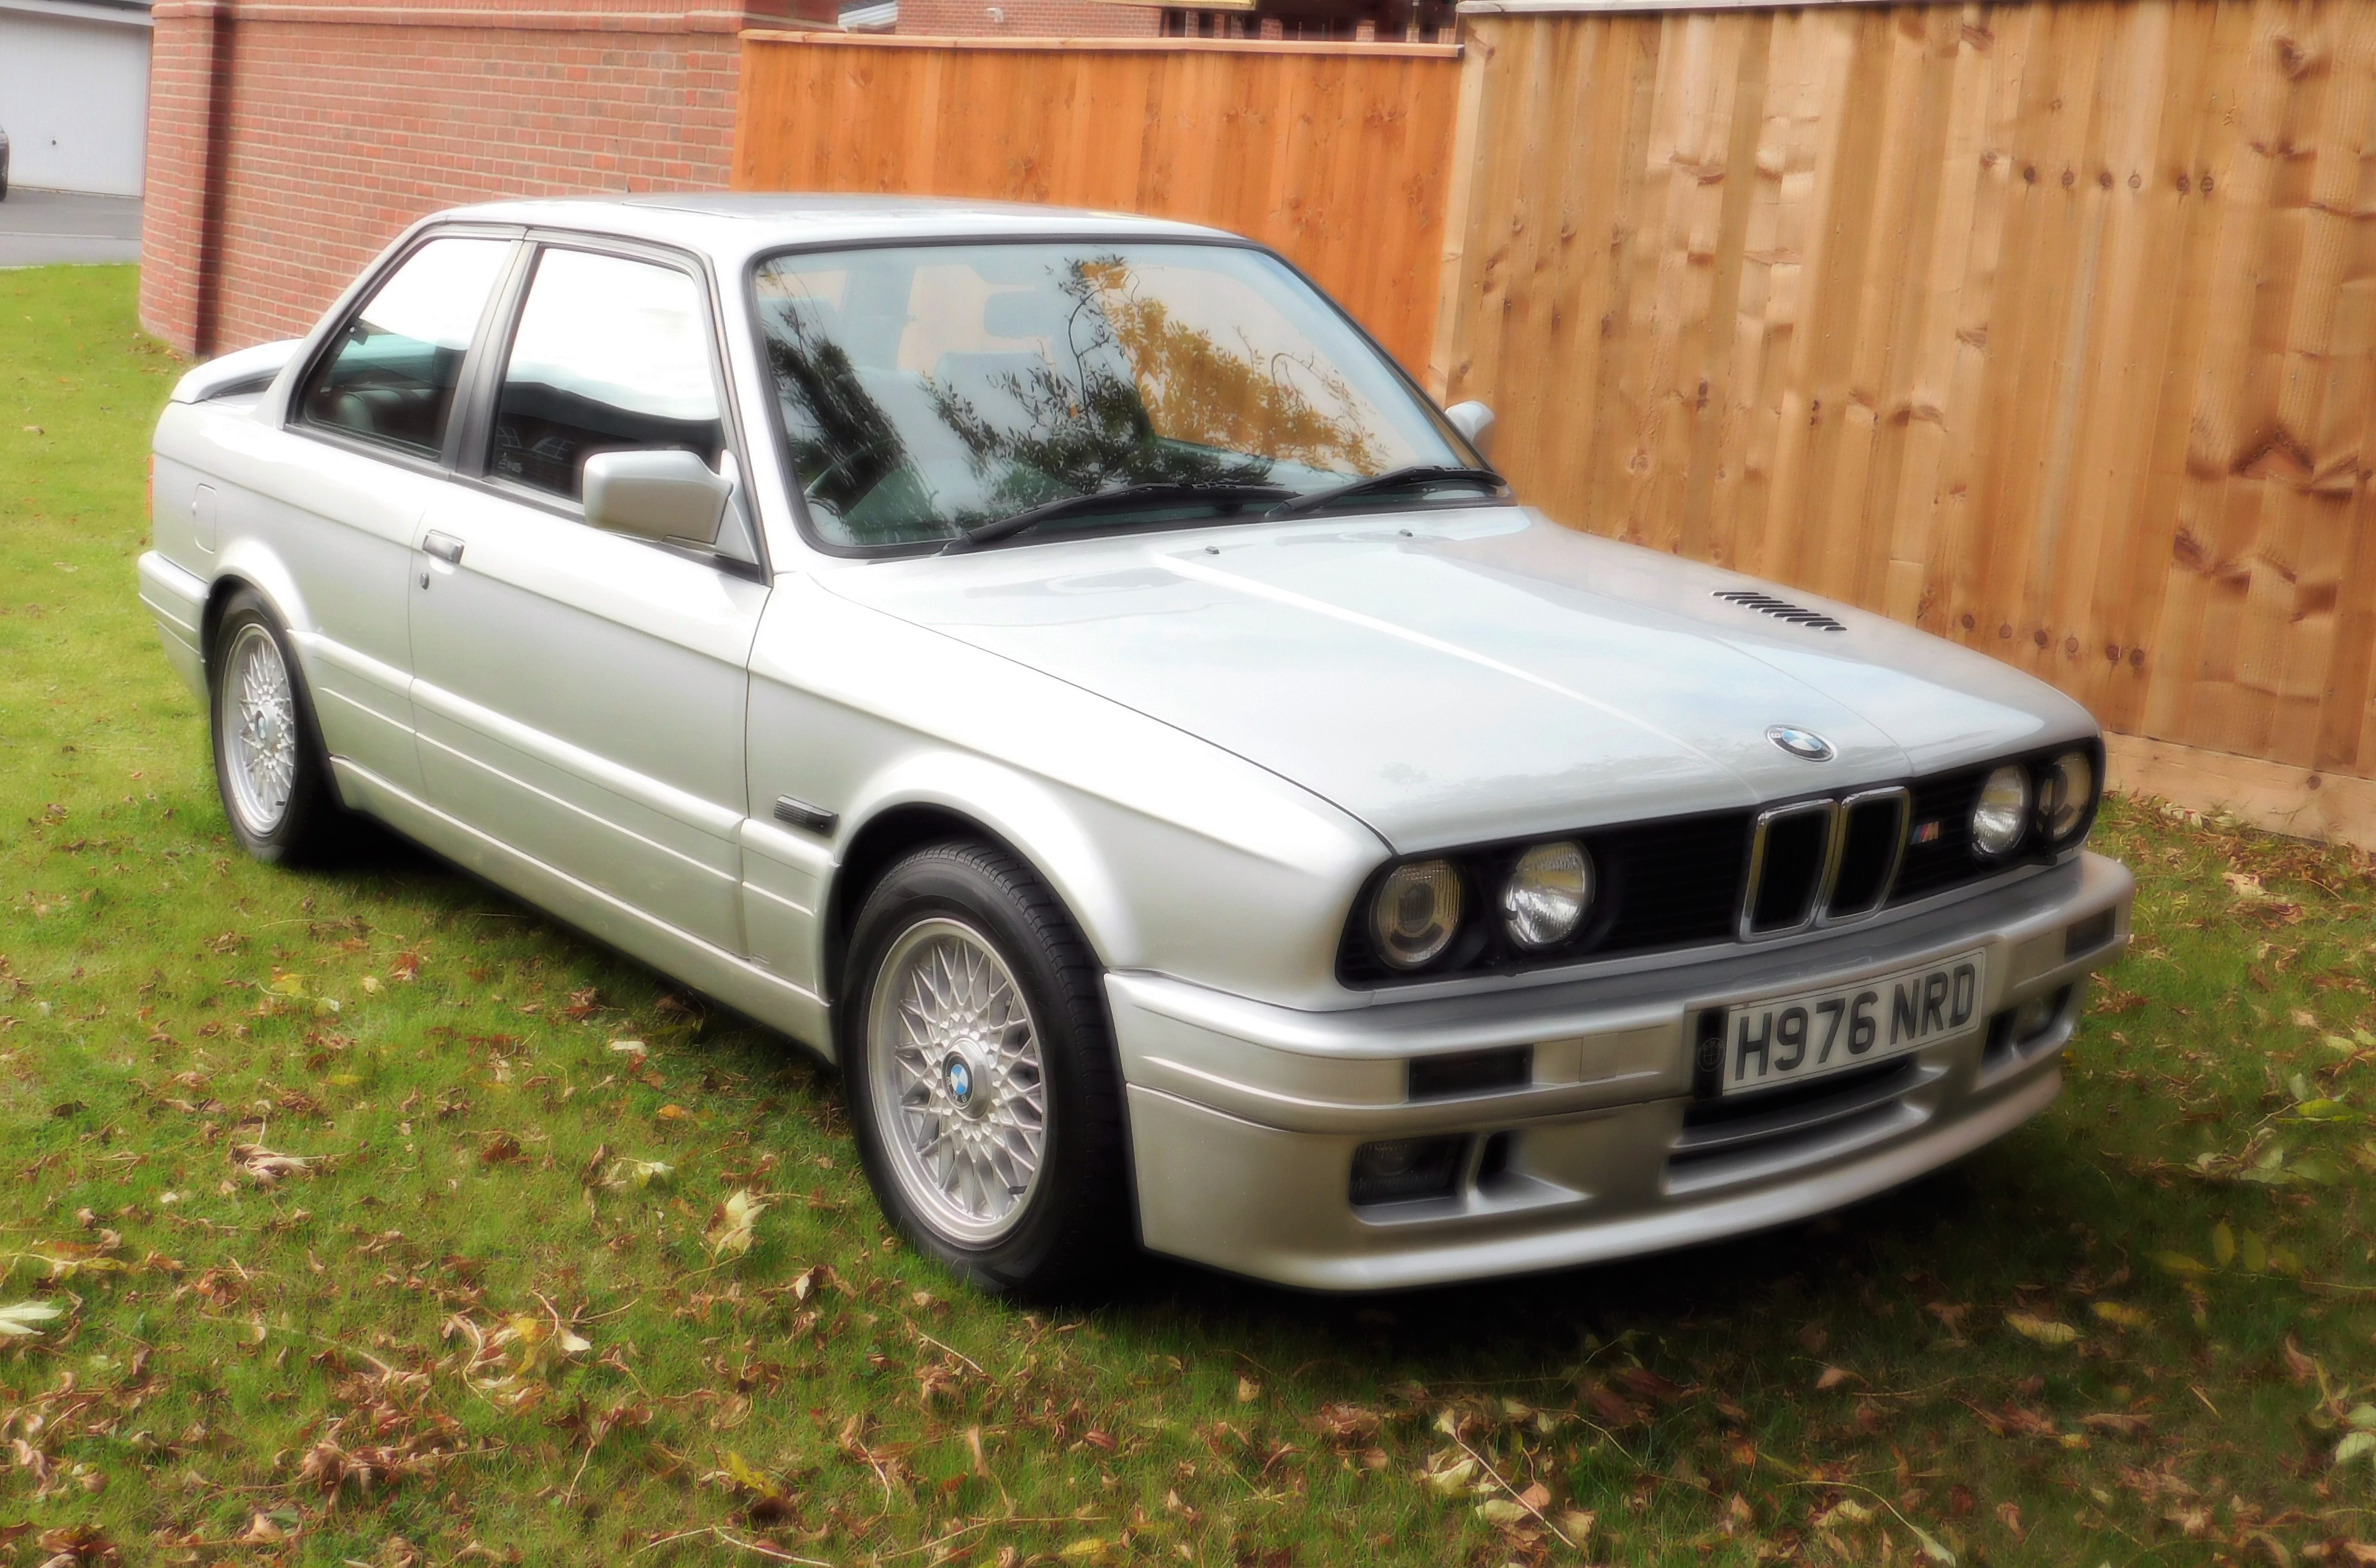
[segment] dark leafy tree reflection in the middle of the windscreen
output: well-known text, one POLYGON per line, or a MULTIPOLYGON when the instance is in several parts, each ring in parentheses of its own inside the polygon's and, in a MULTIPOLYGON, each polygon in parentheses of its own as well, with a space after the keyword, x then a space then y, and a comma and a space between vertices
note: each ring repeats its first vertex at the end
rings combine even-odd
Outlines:
POLYGON ((1062 342, 1053 344, 1057 363, 993 378, 1019 421, 991 418, 960 390, 929 382, 934 411, 965 442, 986 482, 988 504, 960 511, 958 523, 1121 485, 1259 485, 1269 478, 1266 456, 1157 435, 1131 356, 1105 314, 1107 295, 1126 278, 1119 257, 1064 266, 1057 290, 1069 309, 1062 342))

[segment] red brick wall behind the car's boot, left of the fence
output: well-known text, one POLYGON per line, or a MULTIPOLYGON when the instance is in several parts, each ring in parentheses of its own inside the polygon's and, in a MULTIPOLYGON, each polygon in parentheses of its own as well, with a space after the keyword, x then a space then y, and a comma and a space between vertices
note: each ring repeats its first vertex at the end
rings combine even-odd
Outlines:
POLYGON ((425 211, 725 188, 744 26, 832 0, 159 0, 140 321, 200 354, 307 330, 425 211))

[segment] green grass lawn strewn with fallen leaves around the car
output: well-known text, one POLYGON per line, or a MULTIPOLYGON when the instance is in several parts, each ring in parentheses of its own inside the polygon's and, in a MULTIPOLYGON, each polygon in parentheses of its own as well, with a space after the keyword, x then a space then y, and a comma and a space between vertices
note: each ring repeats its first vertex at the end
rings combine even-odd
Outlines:
POLYGON ((409 851, 235 851, 133 287, 0 273, 0 1561, 2376 1561, 2357 855, 2115 803, 2069 1093, 1856 1212, 1034 1314, 889 1240, 782 1038, 409 851))

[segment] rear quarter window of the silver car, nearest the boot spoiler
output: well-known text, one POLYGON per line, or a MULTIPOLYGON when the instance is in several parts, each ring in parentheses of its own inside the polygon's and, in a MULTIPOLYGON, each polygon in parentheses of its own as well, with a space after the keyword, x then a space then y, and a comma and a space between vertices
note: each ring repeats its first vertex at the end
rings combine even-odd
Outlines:
POLYGON ((437 456, 461 361, 511 240, 430 240, 390 273, 314 366, 307 423, 437 456))

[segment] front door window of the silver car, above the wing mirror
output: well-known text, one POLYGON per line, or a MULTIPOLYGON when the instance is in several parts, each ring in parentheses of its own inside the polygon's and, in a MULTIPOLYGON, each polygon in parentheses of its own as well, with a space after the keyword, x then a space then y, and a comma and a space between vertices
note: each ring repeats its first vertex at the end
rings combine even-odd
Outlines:
POLYGON ((725 447, 701 287, 672 266, 546 249, 504 366, 487 470, 575 501, 589 456, 653 447, 710 468, 725 447))

